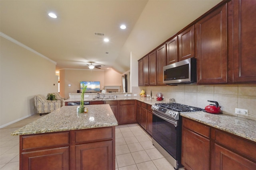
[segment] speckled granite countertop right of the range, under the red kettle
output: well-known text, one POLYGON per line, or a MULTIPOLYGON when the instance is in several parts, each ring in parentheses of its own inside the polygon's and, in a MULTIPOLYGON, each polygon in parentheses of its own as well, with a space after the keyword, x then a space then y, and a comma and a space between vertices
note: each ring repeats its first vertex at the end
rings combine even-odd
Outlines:
POLYGON ((210 114, 204 111, 180 113, 183 117, 256 142, 256 121, 226 114, 210 114))

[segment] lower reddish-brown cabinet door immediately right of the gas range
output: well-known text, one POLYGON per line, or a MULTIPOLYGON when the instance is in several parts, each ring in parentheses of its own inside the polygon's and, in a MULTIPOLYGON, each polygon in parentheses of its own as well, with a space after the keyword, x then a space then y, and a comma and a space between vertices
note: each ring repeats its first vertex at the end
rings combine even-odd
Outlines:
POLYGON ((209 170, 210 140, 182 127, 181 156, 187 170, 209 170))

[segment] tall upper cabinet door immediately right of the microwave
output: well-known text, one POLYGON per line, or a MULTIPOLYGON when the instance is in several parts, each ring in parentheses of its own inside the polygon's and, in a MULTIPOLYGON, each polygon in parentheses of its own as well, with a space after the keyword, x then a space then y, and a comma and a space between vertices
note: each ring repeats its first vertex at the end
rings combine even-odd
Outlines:
POLYGON ((196 23, 198 84, 227 82, 227 4, 196 23))

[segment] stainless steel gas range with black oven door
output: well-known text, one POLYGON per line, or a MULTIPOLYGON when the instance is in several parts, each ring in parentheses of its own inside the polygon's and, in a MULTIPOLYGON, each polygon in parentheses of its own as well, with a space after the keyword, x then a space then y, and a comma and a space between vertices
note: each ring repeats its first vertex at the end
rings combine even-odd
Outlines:
POLYGON ((180 113, 203 109, 184 104, 160 103, 152 105, 152 143, 174 166, 181 168, 181 116, 180 113))

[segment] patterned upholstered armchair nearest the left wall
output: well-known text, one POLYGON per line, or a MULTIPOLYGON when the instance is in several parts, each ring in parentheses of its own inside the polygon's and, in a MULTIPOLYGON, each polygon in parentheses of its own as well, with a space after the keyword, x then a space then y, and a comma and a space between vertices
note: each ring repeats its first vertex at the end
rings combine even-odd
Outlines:
POLYGON ((46 97, 40 94, 34 96, 34 101, 40 116, 42 113, 50 113, 61 107, 60 100, 46 100, 46 97))

